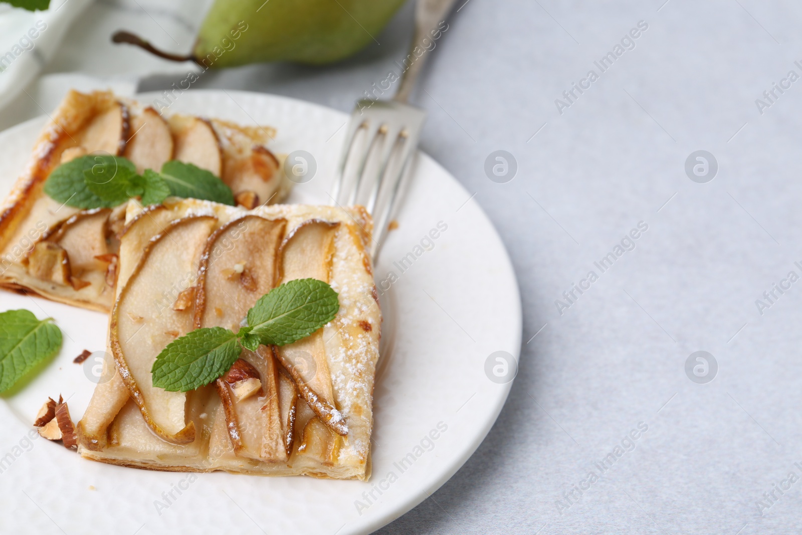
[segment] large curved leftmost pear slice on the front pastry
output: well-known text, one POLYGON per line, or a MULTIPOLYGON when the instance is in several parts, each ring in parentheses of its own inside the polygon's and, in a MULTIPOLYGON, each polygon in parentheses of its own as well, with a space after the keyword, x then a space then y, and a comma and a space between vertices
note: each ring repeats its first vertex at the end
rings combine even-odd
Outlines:
POLYGON ((169 342, 192 330, 192 316, 163 306, 164 293, 178 294, 192 282, 216 223, 211 216, 184 217, 153 237, 111 310, 111 352, 119 374, 148 427, 172 444, 195 439, 194 423, 186 423, 187 395, 153 387, 151 368, 169 342))

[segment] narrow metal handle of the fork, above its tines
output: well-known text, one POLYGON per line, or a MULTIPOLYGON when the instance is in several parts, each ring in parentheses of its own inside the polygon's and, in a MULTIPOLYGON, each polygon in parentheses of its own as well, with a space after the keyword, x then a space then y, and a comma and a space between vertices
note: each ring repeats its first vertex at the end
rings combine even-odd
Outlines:
POLYGON ((399 91, 393 97, 396 102, 406 103, 409 99, 427 54, 434 50, 434 47, 427 49, 423 45, 423 39, 435 43, 432 33, 436 34, 435 30, 439 29, 439 24, 444 21, 455 2, 456 0, 418 0, 415 6, 415 35, 412 37, 409 55, 403 60, 405 70, 401 74, 399 91), (416 55, 416 49, 423 53, 416 55))

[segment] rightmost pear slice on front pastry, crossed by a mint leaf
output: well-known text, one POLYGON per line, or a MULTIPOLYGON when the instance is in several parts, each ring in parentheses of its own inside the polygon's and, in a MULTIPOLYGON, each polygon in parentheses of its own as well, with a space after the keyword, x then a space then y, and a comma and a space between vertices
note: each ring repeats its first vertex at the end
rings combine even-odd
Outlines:
MULTIPOLYGON (((337 224, 327 221, 310 220, 294 229, 279 251, 282 283, 297 278, 329 282, 337 228, 337 224)), ((298 342, 277 347, 276 355, 298 385, 301 397, 321 421, 339 435, 347 435, 345 420, 334 407, 334 389, 326 360, 323 330, 319 329, 298 342)))

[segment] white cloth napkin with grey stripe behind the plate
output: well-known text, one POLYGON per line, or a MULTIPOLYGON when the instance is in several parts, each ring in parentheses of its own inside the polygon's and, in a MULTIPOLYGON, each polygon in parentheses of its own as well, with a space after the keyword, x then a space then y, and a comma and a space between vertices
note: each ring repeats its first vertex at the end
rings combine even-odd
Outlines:
POLYGON ((51 112, 69 89, 132 95, 144 76, 198 71, 192 62, 111 43, 111 35, 129 30, 186 54, 212 1, 52 0, 34 13, 0 3, 0 130, 51 112))

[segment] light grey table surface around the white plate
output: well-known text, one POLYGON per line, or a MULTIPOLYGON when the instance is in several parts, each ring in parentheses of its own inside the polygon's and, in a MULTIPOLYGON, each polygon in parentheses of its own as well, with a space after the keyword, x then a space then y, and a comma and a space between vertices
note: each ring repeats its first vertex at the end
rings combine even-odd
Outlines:
MULTIPOLYGON (((802 6, 462 2, 413 97, 429 113, 421 148, 507 245, 525 344, 484 443, 379 533, 800 533, 802 282, 788 274, 802 276, 802 80, 788 73, 802 76, 802 6), (790 87, 770 102, 773 83, 790 87), (484 171, 496 150, 517 163, 504 184, 484 171), (697 150, 718 164, 706 183, 685 169, 697 150), (573 284, 589 289, 569 301, 573 284), (718 370, 708 358, 687 374, 695 351, 718 370)), ((350 111, 406 53, 411 14, 336 66, 241 67, 197 87, 350 111)), ((70 70, 82 31, 49 71, 70 70)))

